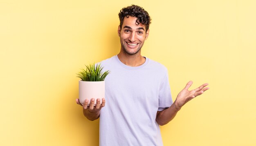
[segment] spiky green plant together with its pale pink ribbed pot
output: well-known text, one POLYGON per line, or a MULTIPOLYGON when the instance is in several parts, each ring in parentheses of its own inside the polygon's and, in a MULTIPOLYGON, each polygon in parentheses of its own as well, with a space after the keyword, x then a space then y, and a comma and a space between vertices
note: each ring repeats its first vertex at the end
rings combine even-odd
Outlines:
POLYGON ((105 78, 110 71, 103 72, 101 64, 85 65, 86 69, 81 69, 76 77, 79 77, 79 102, 84 103, 85 99, 89 100, 88 105, 92 98, 94 98, 94 106, 96 100, 99 98, 102 103, 102 98, 105 97, 105 78))

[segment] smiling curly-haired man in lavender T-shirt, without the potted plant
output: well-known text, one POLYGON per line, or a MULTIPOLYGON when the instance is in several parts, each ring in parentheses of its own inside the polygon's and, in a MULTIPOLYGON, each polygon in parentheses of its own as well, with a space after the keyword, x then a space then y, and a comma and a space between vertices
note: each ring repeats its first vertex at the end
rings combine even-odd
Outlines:
POLYGON ((192 81, 172 101, 167 69, 141 56, 149 35, 150 16, 143 8, 131 5, 121 9, 118 55, 101 65, 111 73, 106 77, 105 99, 85 100, 85 117, 100 117, 101 146, 162 146, 159 125, 170 122, 189 100, 208 90, 208 84, 189 91, 192 81), (87 106, 90 102, 90 106, 87 106))

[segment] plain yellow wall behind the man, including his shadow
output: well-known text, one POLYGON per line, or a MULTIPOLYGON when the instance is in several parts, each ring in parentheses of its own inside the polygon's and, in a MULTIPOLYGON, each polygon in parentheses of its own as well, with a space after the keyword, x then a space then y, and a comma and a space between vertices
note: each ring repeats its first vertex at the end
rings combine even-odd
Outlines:
POLYGON ((255 0, 0 0, 0 145, 97 146, 76 73, 119 52, 118 12, 152 18, 142 55, 210 90, 162 126, 165 146, 255 146, 255 0))

